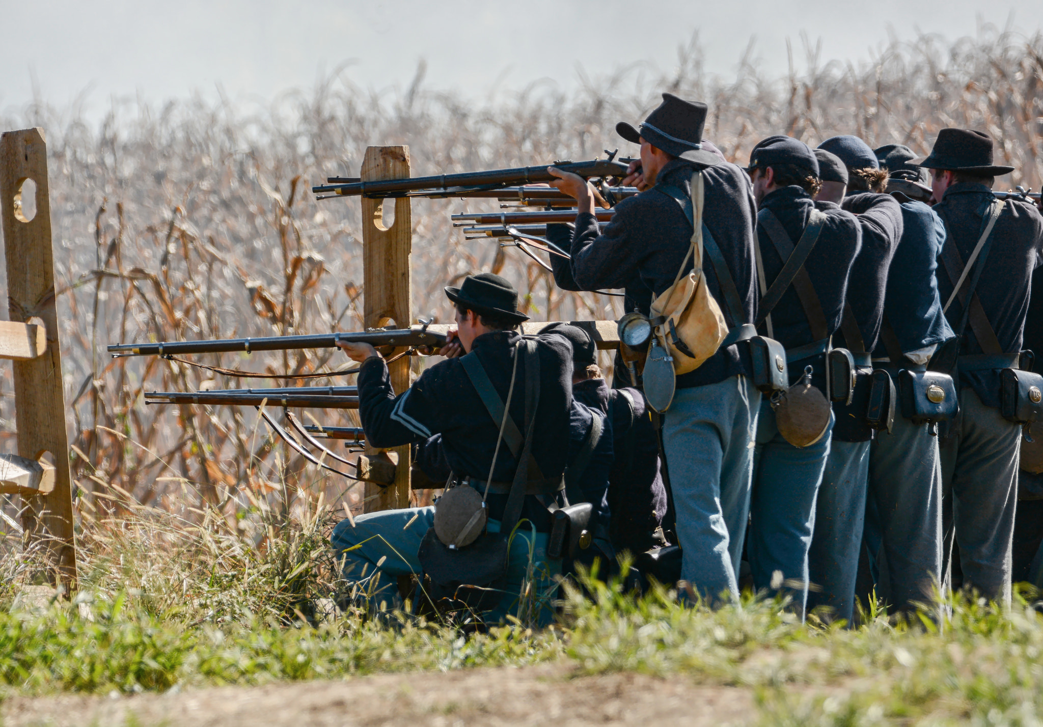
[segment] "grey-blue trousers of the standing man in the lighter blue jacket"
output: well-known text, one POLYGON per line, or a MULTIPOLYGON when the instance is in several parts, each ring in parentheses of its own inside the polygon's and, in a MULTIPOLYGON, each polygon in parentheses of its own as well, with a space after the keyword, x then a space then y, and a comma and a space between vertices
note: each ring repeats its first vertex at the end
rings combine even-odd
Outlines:
POLYGON ((927 425, 896 416, 869 458, 866 547, 876 595, 899 610, 930 603, 942 581, 942 465, 927 425))

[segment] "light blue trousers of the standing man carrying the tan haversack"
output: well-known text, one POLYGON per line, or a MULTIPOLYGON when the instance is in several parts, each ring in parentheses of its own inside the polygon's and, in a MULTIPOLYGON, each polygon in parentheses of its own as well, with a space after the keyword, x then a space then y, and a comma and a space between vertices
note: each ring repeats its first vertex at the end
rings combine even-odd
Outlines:
POLYGON ((760 392, 736 375, 678 389, 664 414, 681 578, 710 602, 738 595, 759 406, 760 392))

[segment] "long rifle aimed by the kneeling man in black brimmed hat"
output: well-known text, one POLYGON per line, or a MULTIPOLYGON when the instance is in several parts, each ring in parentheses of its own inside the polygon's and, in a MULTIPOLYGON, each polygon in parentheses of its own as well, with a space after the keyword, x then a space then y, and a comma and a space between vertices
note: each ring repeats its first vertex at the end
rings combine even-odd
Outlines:
POLYGON ((216 341, 162 341, 160 343, 116 343, 111 354, 122 356, 179 356, 183 354, 224 354, 228 352, 292 350, 297 348, 336 348, 338 341, 370 343, 374 346, 427 345, 438 348, 445 343, 445 333, 413 325, 409 329, 377 329, 363 333, 326 333, 312 336, 270 336, 267 338, 229 338, 216 341))

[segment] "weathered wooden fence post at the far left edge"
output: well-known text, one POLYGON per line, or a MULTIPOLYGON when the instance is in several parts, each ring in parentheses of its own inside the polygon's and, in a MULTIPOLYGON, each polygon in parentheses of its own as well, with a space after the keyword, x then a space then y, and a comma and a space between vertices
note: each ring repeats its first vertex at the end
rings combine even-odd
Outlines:
POLYGON ((44 129, 5 131, 0 136, 0 208, 7 263, 7 307, 13 321, 43 321, 43 355, 15 360, 15 421, 18 453, 38 460, 49 453, 54 467, 50 492, 22 493, 26 543, 41 543, 50 560, 49 578, 66 592, 76 587, 69 440, 66 434, 62 349, 58 345, 51 248, 51 207, 44 129), (23 183, 37 185, 35 215, 27 219, 23 183))

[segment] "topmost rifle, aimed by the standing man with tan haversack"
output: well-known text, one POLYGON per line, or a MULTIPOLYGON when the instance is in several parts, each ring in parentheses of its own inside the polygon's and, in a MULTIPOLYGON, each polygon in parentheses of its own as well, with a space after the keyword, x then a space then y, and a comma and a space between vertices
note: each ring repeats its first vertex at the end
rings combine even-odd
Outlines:
POLYGON ((460 192, 479 191, 470 189, 475 187, 495 189, 498 187, 503 188, 519 184, 528 185, 534 181, 551 181, 555 177, 548 173, 548 167, 557 167, 561 171, 579 174, 584 178, 623 177, 627 173, 627 165, 623 162, 589 160, 586 162, 563 162, 534 167, 516 167, 513 169, 492 169, 481 172, 407 177, 405 179, 379 179, 372 181, 318 185, 312 188, 312 192, 315 194, 332 192, 340 196, 381 198, 411 196, 409 195, 410 192, 425 190, 428 193, 436 195, 455 196, 460 192))

